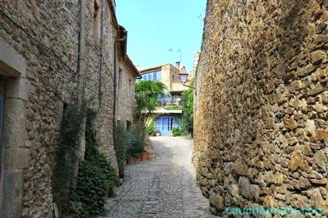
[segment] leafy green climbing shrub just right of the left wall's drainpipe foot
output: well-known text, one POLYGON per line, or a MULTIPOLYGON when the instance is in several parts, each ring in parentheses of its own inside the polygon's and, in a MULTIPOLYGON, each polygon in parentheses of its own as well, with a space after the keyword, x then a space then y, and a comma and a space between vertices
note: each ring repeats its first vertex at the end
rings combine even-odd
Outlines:
POLYGON ((88 119, 86 153, 78 170, 76 187, 70 202, 71 217, 90 217, 103 212, 103 197, 109 187, 118 185, 118 177, 106 156, 98 150, 96 130, 88 119))

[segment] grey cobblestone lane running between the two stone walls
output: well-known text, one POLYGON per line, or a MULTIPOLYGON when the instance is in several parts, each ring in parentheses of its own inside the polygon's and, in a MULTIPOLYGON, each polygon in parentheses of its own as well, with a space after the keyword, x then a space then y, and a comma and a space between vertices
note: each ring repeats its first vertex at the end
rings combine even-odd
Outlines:
MULTIPOLYGON (((195 182, 190 162, 192 140, 150 137, 156 158, 128 165, 116 197, 108 199, 104 217, 213 217, 195 182)), ((98 217, 98 218, 101 218, 98 217)))

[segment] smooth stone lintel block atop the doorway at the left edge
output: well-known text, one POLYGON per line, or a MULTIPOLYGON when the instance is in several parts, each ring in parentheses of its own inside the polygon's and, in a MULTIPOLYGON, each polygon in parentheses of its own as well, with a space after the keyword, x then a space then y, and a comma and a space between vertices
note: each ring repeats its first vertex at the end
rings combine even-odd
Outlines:
POLYGON ((4 76, 26 77, 26 61, 0 38, 0 72, 4 76))

